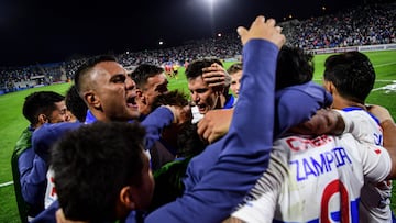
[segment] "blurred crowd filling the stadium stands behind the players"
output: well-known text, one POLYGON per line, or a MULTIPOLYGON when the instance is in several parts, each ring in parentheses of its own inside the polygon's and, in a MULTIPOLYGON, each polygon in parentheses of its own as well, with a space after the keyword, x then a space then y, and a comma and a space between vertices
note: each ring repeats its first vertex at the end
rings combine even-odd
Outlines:
MULTIPOLYGON (((396 3, 366 4, 337 14, 289 20, 280 23, 288 43, 304 49, 396 43, 396 3)), ((124 67, 142 63, 184 66, 196 58, 240 58, 242 46, 237 33, 194 40, 170 48, 127 52, 116 55, 124 67)), ((0 67, 0 94, 37 85, 69 81, 86 58, 51 65, 0 67)))

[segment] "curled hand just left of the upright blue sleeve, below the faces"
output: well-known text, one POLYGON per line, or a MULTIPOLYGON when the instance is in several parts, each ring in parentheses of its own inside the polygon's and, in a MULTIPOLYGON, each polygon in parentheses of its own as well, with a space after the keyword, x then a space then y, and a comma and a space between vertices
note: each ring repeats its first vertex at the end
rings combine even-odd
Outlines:
POLYGON ((204 141, 213 143, 230 129, 233 109, 211 110, 198 122, 198 135, 204 141))

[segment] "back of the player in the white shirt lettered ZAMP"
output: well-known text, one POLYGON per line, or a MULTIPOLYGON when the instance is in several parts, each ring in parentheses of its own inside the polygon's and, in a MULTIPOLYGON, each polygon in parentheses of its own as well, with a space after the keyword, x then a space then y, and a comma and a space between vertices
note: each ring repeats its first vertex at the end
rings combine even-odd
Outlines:
POLYGON ((289 176, 275 211, 282 222, 358 221, 364 180, 381 181, 391 169, 387 153, 351 134, 289 136, 275 143, 275 150, 285 148, 290 150, 289 176))

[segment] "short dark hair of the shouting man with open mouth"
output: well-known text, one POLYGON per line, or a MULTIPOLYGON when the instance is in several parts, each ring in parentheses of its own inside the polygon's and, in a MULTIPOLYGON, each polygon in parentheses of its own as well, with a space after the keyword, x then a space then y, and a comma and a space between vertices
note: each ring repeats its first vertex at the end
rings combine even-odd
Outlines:
POLYGON ((101 62, 117 62, 117 58, 112 55, 99 55, 87 59, 84 64, 81 64, 76 73, 75 73, 75 85, 77 87, 77 91, 81 93, 87 82, 85 80, 88 79, 88 74, 92 70, 92 68, 101 63, 101 62))

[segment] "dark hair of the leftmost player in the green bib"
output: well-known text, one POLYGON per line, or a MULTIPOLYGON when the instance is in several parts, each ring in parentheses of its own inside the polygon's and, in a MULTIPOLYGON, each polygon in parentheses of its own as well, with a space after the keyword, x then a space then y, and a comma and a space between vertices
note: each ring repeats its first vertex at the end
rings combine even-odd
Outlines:
POLYGON ((32 125, 38 123, 38 115, 44 114, 50 119, 51 113, 57 109, 57 102, 64 101, 65 97, 54 91, 37 91, 29 94, 23 103, 23 116, 32 125))

